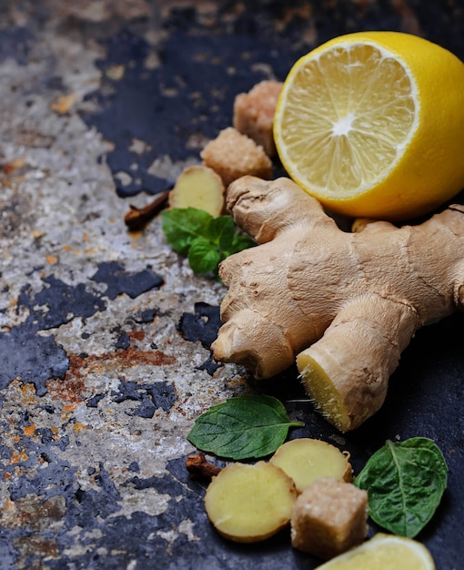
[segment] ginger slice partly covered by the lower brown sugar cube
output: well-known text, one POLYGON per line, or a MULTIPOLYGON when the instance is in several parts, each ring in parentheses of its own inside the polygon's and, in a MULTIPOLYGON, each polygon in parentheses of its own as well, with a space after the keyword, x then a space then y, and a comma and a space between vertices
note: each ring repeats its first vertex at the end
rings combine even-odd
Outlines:
POLYGON ((300 438, 283 443, 270 459, 295 482, 298 493, 319 477, 332 477, 338 481, 353 480, 349 453, 327 442, 300 438))

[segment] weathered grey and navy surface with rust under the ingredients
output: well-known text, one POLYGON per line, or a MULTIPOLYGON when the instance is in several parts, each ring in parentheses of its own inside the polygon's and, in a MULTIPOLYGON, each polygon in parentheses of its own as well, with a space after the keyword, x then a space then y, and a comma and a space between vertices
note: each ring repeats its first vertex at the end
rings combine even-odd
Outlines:
POLYGON ((458 0, 0 1, 2 570, 316 567, 287 534, 221 540, 185 471, 197 415, 252 390, 355 469, 388 438, 435 439, 449 490, 419 538, 439 569, 461 567, 462 317, 420 331, 384 409, 341 437, 294 371, 256 385, 211 361, 225 291, 192 275, 158 219, 136 233, 123 221, 198 161, 237 93, 360 29, 464 58, 458 0))

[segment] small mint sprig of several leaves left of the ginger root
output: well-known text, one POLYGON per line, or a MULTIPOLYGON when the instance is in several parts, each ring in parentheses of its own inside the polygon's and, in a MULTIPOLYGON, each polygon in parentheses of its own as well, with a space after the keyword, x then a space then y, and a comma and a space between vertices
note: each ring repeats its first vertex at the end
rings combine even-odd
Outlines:
POLYGON ((194 273, 215 273, 222 260, 256 245, 237 232, 231 216, 214 218, 202 209, 173 208, 161 213, 162 229, 172 249, 188 259, 194 273))

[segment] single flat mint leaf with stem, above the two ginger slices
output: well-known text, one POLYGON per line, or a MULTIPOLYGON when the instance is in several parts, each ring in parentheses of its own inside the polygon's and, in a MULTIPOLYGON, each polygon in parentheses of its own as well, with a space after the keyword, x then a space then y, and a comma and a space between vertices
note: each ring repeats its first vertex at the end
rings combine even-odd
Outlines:
POLYGON ((245 395, 212 406, 197 418, 187 436, 198 449, 234 460, 274 453, 285 442, 292 422, 283 404, 272 396, 245 395))

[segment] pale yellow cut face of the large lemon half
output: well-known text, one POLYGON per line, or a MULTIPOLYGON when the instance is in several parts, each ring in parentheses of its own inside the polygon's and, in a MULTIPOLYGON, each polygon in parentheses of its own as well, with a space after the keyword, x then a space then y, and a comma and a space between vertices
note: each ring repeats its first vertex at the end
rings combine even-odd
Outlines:
POLYGON ((415 91, 405 67, 376 46, 340 45, 308 60, 293 78, 282 119, 295 174, 334 195, 384 178, 417 127, 415 91))

